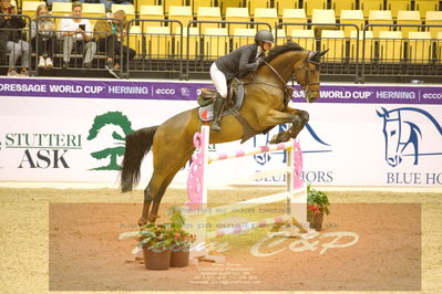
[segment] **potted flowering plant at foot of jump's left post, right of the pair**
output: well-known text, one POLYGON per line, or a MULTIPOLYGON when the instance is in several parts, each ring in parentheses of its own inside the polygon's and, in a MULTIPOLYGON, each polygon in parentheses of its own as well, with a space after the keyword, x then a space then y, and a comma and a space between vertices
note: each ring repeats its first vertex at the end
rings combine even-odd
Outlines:
POLYGON ((172 208, 171 214, 171 233, 173 235, 171 246, 171 266, 183 267, 188 265, 191 244, 195 241, 195 235, 183 229, 185 218, 179 208, 172 208))

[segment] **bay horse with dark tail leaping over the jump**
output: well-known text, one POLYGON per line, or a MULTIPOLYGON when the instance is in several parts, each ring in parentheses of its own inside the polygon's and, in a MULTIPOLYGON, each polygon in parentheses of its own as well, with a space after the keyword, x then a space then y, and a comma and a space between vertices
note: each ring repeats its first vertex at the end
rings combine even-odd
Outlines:
MULTIPOLYGON (((319 96, 319 62, 327 51, 307 51, 294 42, 275 46, 265 64, 248 74, 244 82, 244 104, 239 114, 256 132, 263 133, 280 124, 291 123, 291 127, 277 134, 270 143, 295 138, 307 124, 309 115, 305 111, 289 106, 291 91, 287 83, 296 80, 306 93, 309 103, 319 96), (289 92, 288 99, 285 99, 289 92)), ((144 190, 144 207, 138 224, 155 222, 160 202, 176 172, 191 159, 195 150, 193 138, 204 123, 198 118, 198 108, 179 113, 158 126, 138 129, 126 137, 126 146, 121 170, 121 189, 131 191, 140 180, 143 157, 152 148, 154 170, 144 190), (152 209, 151 209, 151 203, 152 209)), ((243 125, 227 115, 222 118, 223 130, 210 132, 210 144, 226 143, 244 138, 243 125)))

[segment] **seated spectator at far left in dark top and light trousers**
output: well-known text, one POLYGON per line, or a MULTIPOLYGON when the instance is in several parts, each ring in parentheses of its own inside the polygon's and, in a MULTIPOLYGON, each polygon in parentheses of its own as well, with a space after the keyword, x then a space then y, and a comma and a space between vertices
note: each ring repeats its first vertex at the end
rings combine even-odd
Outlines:
MULTIPOLYGON (((17 8, 11 6, 11 0, 1 0, 0 12, 4 14, 17 14, 17 8)), ((25 27, 21 17, 0 17, 0 30, 2 31, 6 52, 9 53, 8 76, 29 76, 29 43, 21 40, 21 29, 25 27), (21 73, 18 74, 16 63, 21 57, 21 73)), ((4 45, 4 44, 1 44, 4 45)))

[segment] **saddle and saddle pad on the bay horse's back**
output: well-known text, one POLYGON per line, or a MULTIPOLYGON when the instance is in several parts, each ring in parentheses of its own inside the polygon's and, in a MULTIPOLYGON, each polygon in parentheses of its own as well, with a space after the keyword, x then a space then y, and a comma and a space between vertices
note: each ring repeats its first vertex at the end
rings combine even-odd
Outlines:
MULTIPOLYGON (((228 94, 226 105, 222 116, 234 114, 236 115, 244 102, 244 86, 241 81, 234 78, 227 85, 228 94)), ((210 122, 214 119, 214 99, 216 97, 215 88, 201 88, 201 94, 197 97, 199 104, 198 115, 202 122, 210 122)))

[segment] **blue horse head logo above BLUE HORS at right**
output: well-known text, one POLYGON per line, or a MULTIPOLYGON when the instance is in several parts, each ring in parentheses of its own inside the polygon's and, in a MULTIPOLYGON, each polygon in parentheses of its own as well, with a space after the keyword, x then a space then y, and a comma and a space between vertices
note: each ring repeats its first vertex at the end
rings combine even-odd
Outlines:
MULTIPOLYGON (((426 138, 432 138, 431 135, 423 134, 419 126, 418 122, 422 120, 422 116, 432 123, 435 136, 439 135, 442 138, 440 123, 428 112, 415 107, 401 107, 391 111, 381 107, 377 114, 383 118, 386 161, 390 166, 395 167, 401 164, 404 156, 414 157, 413 165, 418 165, 420 156, 442 155, 442 153, 422 153, 421 150, 421 143, 426 138)), ((426 133, 430 134, 430 130, 426 133)))

